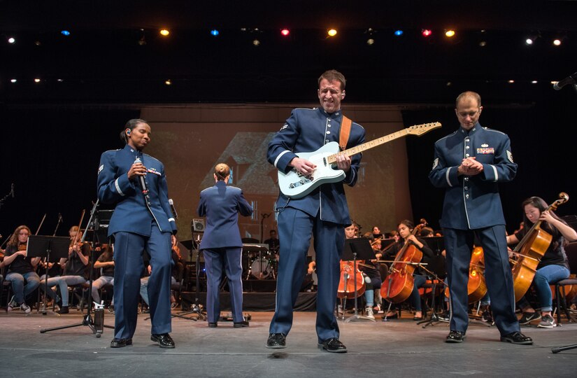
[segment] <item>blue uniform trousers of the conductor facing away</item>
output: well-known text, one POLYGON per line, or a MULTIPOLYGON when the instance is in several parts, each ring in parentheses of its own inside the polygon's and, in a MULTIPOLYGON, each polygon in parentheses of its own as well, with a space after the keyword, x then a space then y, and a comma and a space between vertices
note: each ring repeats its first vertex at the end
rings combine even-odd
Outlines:
POLYGON ((206 314, 209 323, 218 322, 220 317, 220 281, 222 269, 229 280, 232 320, 243 321, 243 267, 241 247, 203 249, 206 267, 206 314))

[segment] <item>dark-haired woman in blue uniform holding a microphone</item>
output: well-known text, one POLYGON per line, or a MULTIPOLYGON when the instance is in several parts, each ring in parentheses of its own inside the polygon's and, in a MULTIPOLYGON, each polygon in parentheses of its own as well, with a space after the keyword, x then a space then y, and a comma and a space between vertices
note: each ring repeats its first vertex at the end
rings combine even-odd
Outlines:
POLYGON ((98 198, 114 204, 108 236, 114 238, 115 334, 112 348, 132 344, 143 251, 150 254, 148 281, 150 339, 161 348, 174 348, 171 332, 171 247, 176 244, 176 223, 171 215, 164 165, 144 154, 150 143, 145 120, 129 120, 120 133, 126 146, 106 151, 98 169, 98 198))

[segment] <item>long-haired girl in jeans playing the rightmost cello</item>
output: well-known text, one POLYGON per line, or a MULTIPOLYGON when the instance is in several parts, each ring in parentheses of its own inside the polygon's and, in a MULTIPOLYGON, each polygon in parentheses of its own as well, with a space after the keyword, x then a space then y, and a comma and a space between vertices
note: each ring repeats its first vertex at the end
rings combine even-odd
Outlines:
POLYGON ((527 298, 523 296, 517 302, 518 308, 523 312, 519 323, 525 325, 541 319, 541 322, 537 325, 539 328, 553 328, 556 324, 551 314, 553 310, 553 295, 551 294, 550 284, 569 277, 569 262, 567 261, 564 246, 567 246, 569 241, 577 240, 577 232, 552 210, 547 211, 548 205, 540 197, 528 198, 522 203, 522 207, 524 211, 523 227, 507 237, 507 244, 517 244, 528 232, 527 230, 530 230, 532 225, 539 220, 542 222, 541 229, 552 235, 553 239, 543 258, 541 258, 533 279, 539 304, 541 305, 541 314, 536 313, 527 298))

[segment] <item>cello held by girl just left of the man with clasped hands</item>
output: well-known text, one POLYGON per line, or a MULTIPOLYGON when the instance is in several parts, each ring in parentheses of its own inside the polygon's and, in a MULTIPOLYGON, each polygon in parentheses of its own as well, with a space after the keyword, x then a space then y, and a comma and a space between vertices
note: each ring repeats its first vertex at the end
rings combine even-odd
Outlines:
MULTIPOLYGON (((421 219, 420 225, 413 228, 411 235, 427 225, 425 219, 421 219)), ((413 244, 406 242, 397 253, 390 267, 390 274, 387 276, 388 283, 380 288, 380 295, 392 303, 404 302, 413 291, 415 264, 422 259, 422 252, 413 244)))

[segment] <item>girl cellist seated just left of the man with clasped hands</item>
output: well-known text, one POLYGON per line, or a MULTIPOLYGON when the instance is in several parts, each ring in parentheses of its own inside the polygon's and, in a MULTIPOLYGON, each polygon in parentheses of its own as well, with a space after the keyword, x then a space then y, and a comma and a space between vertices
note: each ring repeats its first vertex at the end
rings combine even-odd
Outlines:
MULTIPOLYGON (((397 226, 397 231, 399 232, 399 241, 393 244, 391 248, 389 248, 385 252, 385 260, 389 260, 390 258, 394 258, 399 251, 403 248, 405 244, 413 244, 413 246, 417 247, 423 254, 423 257, 427 256, 427 258, 433 258, 434 254, 431 248, 427 245, 427 242, 422 239, 421 237, 415 237, 412 235, 413 232, 413 222, 404 220, 399 223, 397 226)), ((411 301, 411 305, 415 307, 415 316, 413 317, 414 321, 422 320, 422 306, 421 306, 421 296, 419 294, 419 289, 425 286, 427 282, 427 272, 418 267, 415 270, 415 274, 413 274, 413 291, 411 292, 411 296, 408 299, 411 301)), ((387 281, 385 280, 385 286, 387 285, 387 281)), ((387 316, 387 319, 394 319, 397 318, 397 313, 390 311, 387 316)))

